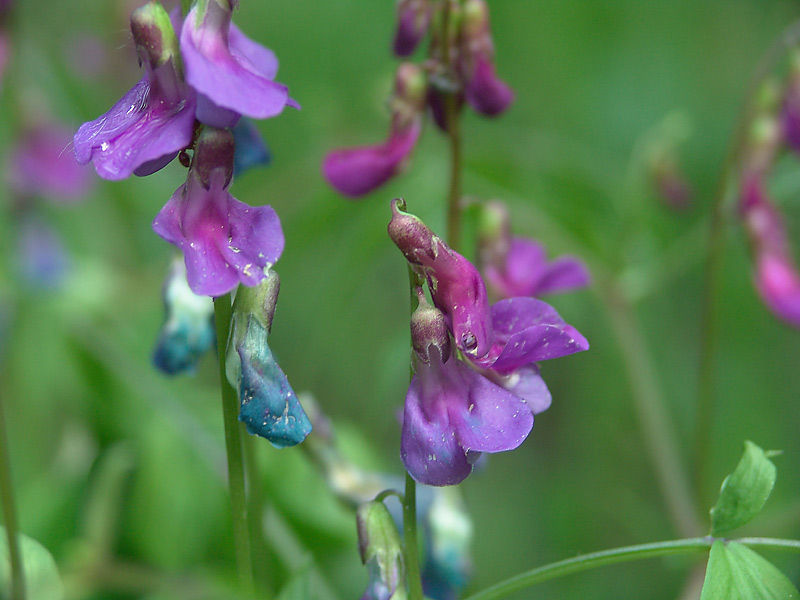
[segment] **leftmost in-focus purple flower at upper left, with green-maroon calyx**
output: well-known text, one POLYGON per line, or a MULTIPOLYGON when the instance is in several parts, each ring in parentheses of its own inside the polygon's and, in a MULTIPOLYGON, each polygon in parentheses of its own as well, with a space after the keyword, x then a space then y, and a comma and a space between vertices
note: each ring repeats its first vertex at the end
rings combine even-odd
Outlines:
POLYGON ((104 179, 149 175, 192 142, 195 95, 183 81, 178 40, 164 8, 155 2, 131 15, 131 31, 144 77, 113 107, 81 125, 75 158, 91 161, 104 179))

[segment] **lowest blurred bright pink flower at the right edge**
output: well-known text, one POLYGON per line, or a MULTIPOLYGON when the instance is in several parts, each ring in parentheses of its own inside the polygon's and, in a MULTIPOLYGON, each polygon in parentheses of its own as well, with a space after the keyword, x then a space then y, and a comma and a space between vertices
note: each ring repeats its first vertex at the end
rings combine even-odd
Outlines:
POLYGON ((750 236, 761 299, 777 317, 800 328, 800 273, 783 218, 760 178, 744 181, 739 209, 750 236))

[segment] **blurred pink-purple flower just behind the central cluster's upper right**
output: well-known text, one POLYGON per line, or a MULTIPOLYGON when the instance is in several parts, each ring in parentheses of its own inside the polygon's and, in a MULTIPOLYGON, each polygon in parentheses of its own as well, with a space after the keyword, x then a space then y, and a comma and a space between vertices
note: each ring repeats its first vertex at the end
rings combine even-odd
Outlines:
POLYGON ((484 207, 480 228, 480 257, 490 289, 499 298, 566 292, 589 284, 589 271, 580 259, 559 256, 547 260, 542 244, 511 235, 508 210, 499 202, 484 207))

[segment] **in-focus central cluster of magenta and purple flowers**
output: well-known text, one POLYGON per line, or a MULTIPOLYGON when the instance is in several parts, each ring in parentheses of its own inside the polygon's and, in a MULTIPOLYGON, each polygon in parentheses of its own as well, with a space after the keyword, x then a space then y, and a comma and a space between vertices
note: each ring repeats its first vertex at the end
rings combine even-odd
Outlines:
POLYGON ((588 349, 548 304, 530 297, 490 305, 478 270, 417 217, 392 203, 389 236, 424 278, 411 321, 415 375, 406 396, 401 456, 428 485, 453 485, 482 452, 519 446, 550 405, 538 361, 588 349))

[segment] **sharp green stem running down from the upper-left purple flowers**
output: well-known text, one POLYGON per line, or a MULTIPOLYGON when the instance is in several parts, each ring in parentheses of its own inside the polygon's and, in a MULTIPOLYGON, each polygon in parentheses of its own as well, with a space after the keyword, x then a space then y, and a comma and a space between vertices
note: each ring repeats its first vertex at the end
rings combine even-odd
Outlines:
POLYGON ((222 419, 225 424, 225 452, 228 458, 228 491, 233 517, 233 543, 239 581, 245 593, 253 593, 253 563, 250 556, 250 529, 247 520, 247 497, 244 488, 244 458, 239 436, 239 399, 225 375, 225 348, 233 310, 231 296, 214 298, 214 318, 217 325, 217 353, 220 388, 222 389, 222 419))

